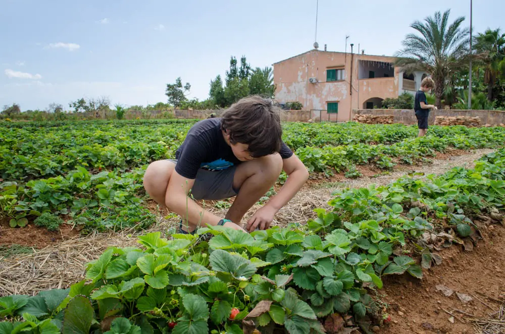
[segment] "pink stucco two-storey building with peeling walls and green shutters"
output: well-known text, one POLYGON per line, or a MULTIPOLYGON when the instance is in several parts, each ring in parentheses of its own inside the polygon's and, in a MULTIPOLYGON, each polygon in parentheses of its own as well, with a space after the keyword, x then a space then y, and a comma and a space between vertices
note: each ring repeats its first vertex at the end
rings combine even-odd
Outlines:
POLYGON ((415 94, 426 76, 407 75, 394 57, 313 49, 273 64, 275 99, 298 101, 312 117, 348 121, 352 109, 381 106, 386 97, 415 94))

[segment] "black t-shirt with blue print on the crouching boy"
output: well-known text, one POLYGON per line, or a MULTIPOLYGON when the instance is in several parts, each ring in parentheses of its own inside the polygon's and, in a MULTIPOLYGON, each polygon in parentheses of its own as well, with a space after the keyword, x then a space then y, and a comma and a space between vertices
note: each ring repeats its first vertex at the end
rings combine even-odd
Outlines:
MULTIPOLYGON (((279 154, 287 159, 293 152, 283 142, 279 154)), ((175 152, 175 158, 175 171, 190 180, 196 178, 199 168, 221 171, 242 162, 233 154, 223 137, 221 118, 210 118, 193 125, 175 152)))

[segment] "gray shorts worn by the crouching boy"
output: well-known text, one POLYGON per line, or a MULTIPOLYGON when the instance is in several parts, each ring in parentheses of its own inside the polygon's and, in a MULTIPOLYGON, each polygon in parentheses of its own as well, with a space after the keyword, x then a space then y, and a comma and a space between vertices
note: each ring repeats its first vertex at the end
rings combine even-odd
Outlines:
MULTIPOLYGON (((176 159, 168 159, 177 164, 176 159)), ((193 188, 189 193, 196 200, 220 200, 234 197, 238 190, 233 189, 233 178, 237 165, 233 165, 223 171, 208 171, 198 169, 193 188)))

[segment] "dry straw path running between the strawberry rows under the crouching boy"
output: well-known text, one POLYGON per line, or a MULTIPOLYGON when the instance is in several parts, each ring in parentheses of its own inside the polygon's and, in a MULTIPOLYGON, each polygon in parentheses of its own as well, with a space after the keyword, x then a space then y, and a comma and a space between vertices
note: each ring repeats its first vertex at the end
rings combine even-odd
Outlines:
MULTIPOLYGON (((314 209, 326 207, 331 193, 341 188, 366 187, 371 183, 377 185, 388 184, 397 178, 406 175, 411 170, 428 174, 441 174, 453 166, 472 166, 473 160, 492 150, 481 149, 471 154, 453 156, 447 160, 435 160, 432 164, 412 167, 409 170, 393 172, 377 178, 360 178, 357 180, 344 180, 328 187, 305 188, 300 191, 285 207, 275 216, 272 225, 285 226, 289 222, 306 222, 314 218, 314 209)), ((247 212, 243 222, 259 209, 255 205, 247 212)), ((213 206, 206 208, 224 216, 226 209, 217 209, 213 206)), ((0 297, 11 294, 34 295, 40 290, 53 288, 67 288, 84 277, 86 263, 98 258, 110 246, 134 246, 136 236, 160 231, 169 235, 176 228, 179 219, 165 219, 166 212, 158 211, 158 221, 148 231, 122 231, 116 234, 94 234, 84 238, 76 238, 62 242, 56 246, 35 250, 33 254, 10 257, 0 261, 0 297)), ((483 333, 487 333, 483 331, 483 333)))

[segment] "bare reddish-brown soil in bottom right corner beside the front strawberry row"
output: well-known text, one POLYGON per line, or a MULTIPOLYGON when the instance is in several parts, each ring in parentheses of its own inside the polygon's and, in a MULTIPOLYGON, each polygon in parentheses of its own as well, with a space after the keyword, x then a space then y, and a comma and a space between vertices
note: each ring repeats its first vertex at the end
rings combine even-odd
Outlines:
POLYGON ((467 319, 487 319, 499 310, 498 301, 505 301, 505 229, 492 225, 482 234, 484 240, 471 252, 461 246, 439 252, 442 264, 423 270, 422 280, 407 275, 388 277, 379 295, 389 304, 392 321, 381 332, 472 333, 474 327, 467 319), (437 285, 454 293, 446 297, 436 290, 437 285), (457 292, 473 300, 463 303, 457 292), (453 323, 447 312, 454 316, 453 323))

